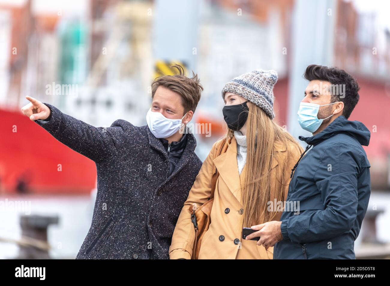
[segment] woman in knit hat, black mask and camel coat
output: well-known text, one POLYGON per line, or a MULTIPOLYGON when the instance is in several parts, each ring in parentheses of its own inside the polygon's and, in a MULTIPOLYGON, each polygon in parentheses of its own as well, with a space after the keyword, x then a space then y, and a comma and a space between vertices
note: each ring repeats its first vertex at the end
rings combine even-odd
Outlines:
POLYGON ((194 257, 196 234, 191 206, 197 209, 211 197, 215 168, 219 175, 211 223, 196 256, 272 259, 273 247, 266 249, 256 240, 242 239, 242 232, 245 227, 280 219, 291 169, 302 151, 298 142, 273 121, 276 81, 275 71, 255 70, 234 78, 222 89, 227 133, 213 145, 184 203, 172 237, 170 259, 194 257))

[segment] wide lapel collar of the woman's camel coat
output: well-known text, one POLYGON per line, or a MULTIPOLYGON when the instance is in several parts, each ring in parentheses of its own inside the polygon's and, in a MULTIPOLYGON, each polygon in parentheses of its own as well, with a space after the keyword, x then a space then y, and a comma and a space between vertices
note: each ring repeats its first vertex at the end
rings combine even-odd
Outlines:
MULTIPOLYGON (((275 143, 274 148, 277 152, 286 151, 281 144, 275 143)), ((246 173, 246 164, 239 174, 237 162, 237 141, 235 137, 232 138, 226 152, 213 160, 223 181, 229 187, 234 197, 241 202, 241 182, 243 182, 246 173)), ((272 168, 278 165, 278 161, 274 158, 272 160, 272 168)))

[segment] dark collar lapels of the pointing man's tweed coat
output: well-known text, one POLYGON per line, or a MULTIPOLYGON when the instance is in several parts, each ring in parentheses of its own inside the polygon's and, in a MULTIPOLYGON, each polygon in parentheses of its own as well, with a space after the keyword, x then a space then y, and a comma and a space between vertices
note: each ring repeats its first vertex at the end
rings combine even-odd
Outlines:
MULTIPOLYGON (((190 158, 192 158, 194 151, 195 151, 195 147, 196 147, 196 139, 194 137, 194 135, 191 133, 191 130, 186 127, 186 130, 187 130, 187 144, 186 144, 186 147, 183 151, 183 154, 181 155, 181 158, 179 160, 179 162, 177 162, 177 165, 174 169, 174 171, 172 172, 172 174, 163 182, 163 184, 165 184, 170 178, 172 178, 174 175, 177 174, 177 172, 179 172, 183 167, 184 165, 186 165, 186 163, 188 163, 188 161, 190 160, 190 158)), ((162 153, 165 157, 166 160, 169 160, 168 158, 168 152, 167 150, 165 150, 163 144, 161 143, 161 141, 156 138, 153 133, 149 130, 149 127, 146 126, 146 132, 147 132, 147 137, 149 139, 149 146, 153 149, 156 149, 157 151, 159 151, 160 153, 162 153)), ((161 186, 163 185, 161 184, 161 186)))

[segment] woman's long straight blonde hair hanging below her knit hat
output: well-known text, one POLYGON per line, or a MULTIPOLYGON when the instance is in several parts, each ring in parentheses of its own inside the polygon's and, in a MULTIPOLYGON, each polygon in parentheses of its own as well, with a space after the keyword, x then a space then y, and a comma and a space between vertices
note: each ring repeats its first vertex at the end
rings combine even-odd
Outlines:
MULTIPOLYGON (((241 208, 244 210, 242 226, 250 227, 273 220, 277 212, 269 212, 268 202, 271 193, 275 194, 277 202, 284 201, 284 188, 288 185, 282 182, 271 181, 272 161, 275 157, 275 142, 285 147, 286 157, 289 158, 291 147, 303 151, 293 136, 271 120, 257 105, 248 105, 248 119, 246 121, 246 173, 241 184, 241 208)), ((227 130, 226 137, 230 139, 234 131, 227 130)), ((229 140, 227 140, 229 142, 229 140)), ((287 160, 278 162, 282 168, 277 168, 277 178, 280 172, 289 172, 287 160)), ((284 178, 284 176, 282 176, 284 178)))

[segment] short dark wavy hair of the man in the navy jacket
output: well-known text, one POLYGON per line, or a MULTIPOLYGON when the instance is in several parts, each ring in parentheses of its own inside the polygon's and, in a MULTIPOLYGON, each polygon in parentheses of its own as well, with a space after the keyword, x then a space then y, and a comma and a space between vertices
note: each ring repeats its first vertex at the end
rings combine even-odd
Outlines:
POLYGON ((338 94, 333 94, 331 97, 331 103, 342 101, 344 102, 344 115, 347 119, 351 115, 353 109, 359 101, 359 85, 355 78, 348 74, 345 70, 341 70, 336 67, 326 67, 323 65, 309 65, 303 77, 308 81, 320 80, 328 81, 331 84, 345 86, 345 96, 340 97, 338 94))

